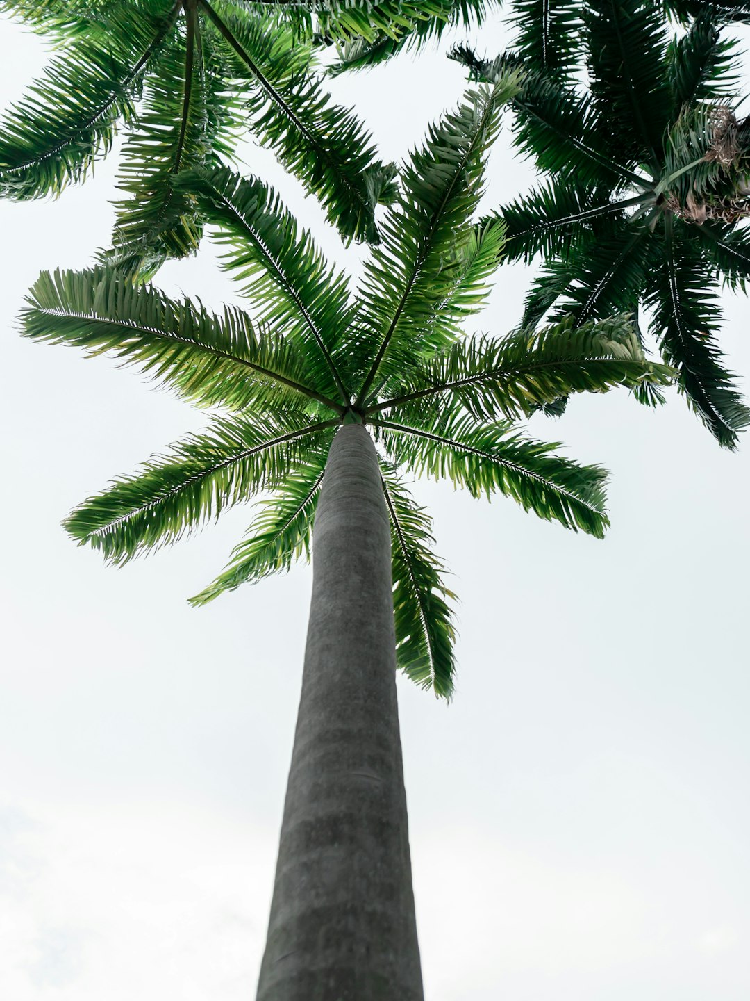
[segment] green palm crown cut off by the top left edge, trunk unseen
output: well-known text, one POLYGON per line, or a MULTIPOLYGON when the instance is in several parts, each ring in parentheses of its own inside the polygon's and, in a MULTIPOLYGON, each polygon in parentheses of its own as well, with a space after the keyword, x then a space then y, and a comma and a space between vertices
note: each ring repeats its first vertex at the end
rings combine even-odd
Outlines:
POLYGON ((249 128, 322 201, 345 239, 376 241, 375 206, 394 195, 393 166, 375 158, 354 113, 333 104, 313 71, 322 39, 384 33, 395 47, 481 20, 492 0, 0 0, 51 39, 46 75, 0 122, 0 194, 58 194, 127 138, 114 250, 142 277, 198 244, 202 219, 181 170, 231 159, 249 128))

